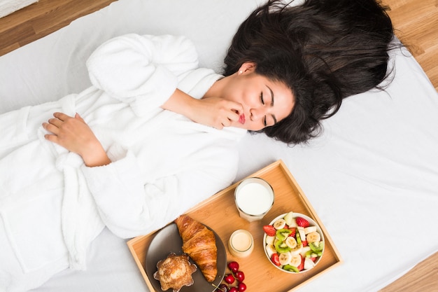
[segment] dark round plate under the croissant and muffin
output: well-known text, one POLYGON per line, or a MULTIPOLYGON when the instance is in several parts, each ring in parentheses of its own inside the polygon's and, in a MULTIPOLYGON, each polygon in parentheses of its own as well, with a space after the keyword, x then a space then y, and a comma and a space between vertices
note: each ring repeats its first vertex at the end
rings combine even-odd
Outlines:
MULTIPOLYGON (((207 226, 207 228, 209 228, 207 226)), ((211 230, 211 228, 209 228, 211 230)), ((227 267, 227 251, 220 237, 213 231, 216 236, 216 246, 218 247, 218 275, 213 281, 213 284, 219 286, 225 275, 225 269, 227 267)), ((146 274, 148 275, 150 283, 157 292, 164 292, 161 289, 160 281, 154 279, 154 273, 157 271, 157 263, 164 258, 167 258, 169 253, 176 253, 178 255, 183 254, 183 239, 178 232, 178 227, 175 223, 171 223, 162 230, 158 231, 155 237, 150 242, 148 251, 146 252, 146 274)), ((191 263, 194 263, 190 259, 191 263)), ((201 270, 196 270, 193 273, 193 280, 195 283, 192 286, 183 286, 180 292, 213 292, 216 288, 211 285, 202 274, 201 270)), ((168 292, 171 290, 167 290, 168 292)))

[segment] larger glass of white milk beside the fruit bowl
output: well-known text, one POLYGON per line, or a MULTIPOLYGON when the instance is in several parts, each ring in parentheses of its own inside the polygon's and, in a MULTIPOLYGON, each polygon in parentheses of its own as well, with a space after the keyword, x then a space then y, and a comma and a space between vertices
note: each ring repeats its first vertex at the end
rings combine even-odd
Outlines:
POLYGON ((264 179, 250 177, 236 187, 234 200, 241 218, 249 222, 257 221, 262 219, 274 204, 274 190, 264 179))

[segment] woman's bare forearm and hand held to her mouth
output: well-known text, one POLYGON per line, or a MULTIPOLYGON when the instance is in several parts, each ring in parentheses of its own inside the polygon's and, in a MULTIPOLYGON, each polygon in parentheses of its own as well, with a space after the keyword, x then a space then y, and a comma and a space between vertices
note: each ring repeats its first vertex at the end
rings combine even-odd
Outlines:
POLYGON ((175 90, 162 109, 181 113, 196 123, 222 129, 232 122, 238 121, 243 107, 237 102, 231 102, 220 97, 195 99, 181 90, 175 90))

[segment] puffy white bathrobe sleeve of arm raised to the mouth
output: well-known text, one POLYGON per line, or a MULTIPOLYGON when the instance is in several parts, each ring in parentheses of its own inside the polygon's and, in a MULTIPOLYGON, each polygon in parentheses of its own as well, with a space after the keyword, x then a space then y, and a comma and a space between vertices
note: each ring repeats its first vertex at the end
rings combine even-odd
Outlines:
POLYGON ((164 104, 178 79, 197 66, 192 41, 170 35, 118 36, 87 60, 92 85, 128 103, 137 116, 164 104))

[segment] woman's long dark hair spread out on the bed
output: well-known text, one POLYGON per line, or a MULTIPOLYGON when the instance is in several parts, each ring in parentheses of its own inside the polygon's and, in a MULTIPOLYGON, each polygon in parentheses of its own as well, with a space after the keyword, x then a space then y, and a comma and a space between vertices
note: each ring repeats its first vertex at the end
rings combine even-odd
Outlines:
POLYGON ((393 25, 374 0, 305 0, 298 6, 269 0, 234 35, 224 75, 243 62, 282 81, 295 96, 290 115, 264 132, 288 144, 316 137, 320 120, 333 116, 342 99, 365 92, 388 77, 393 25))

